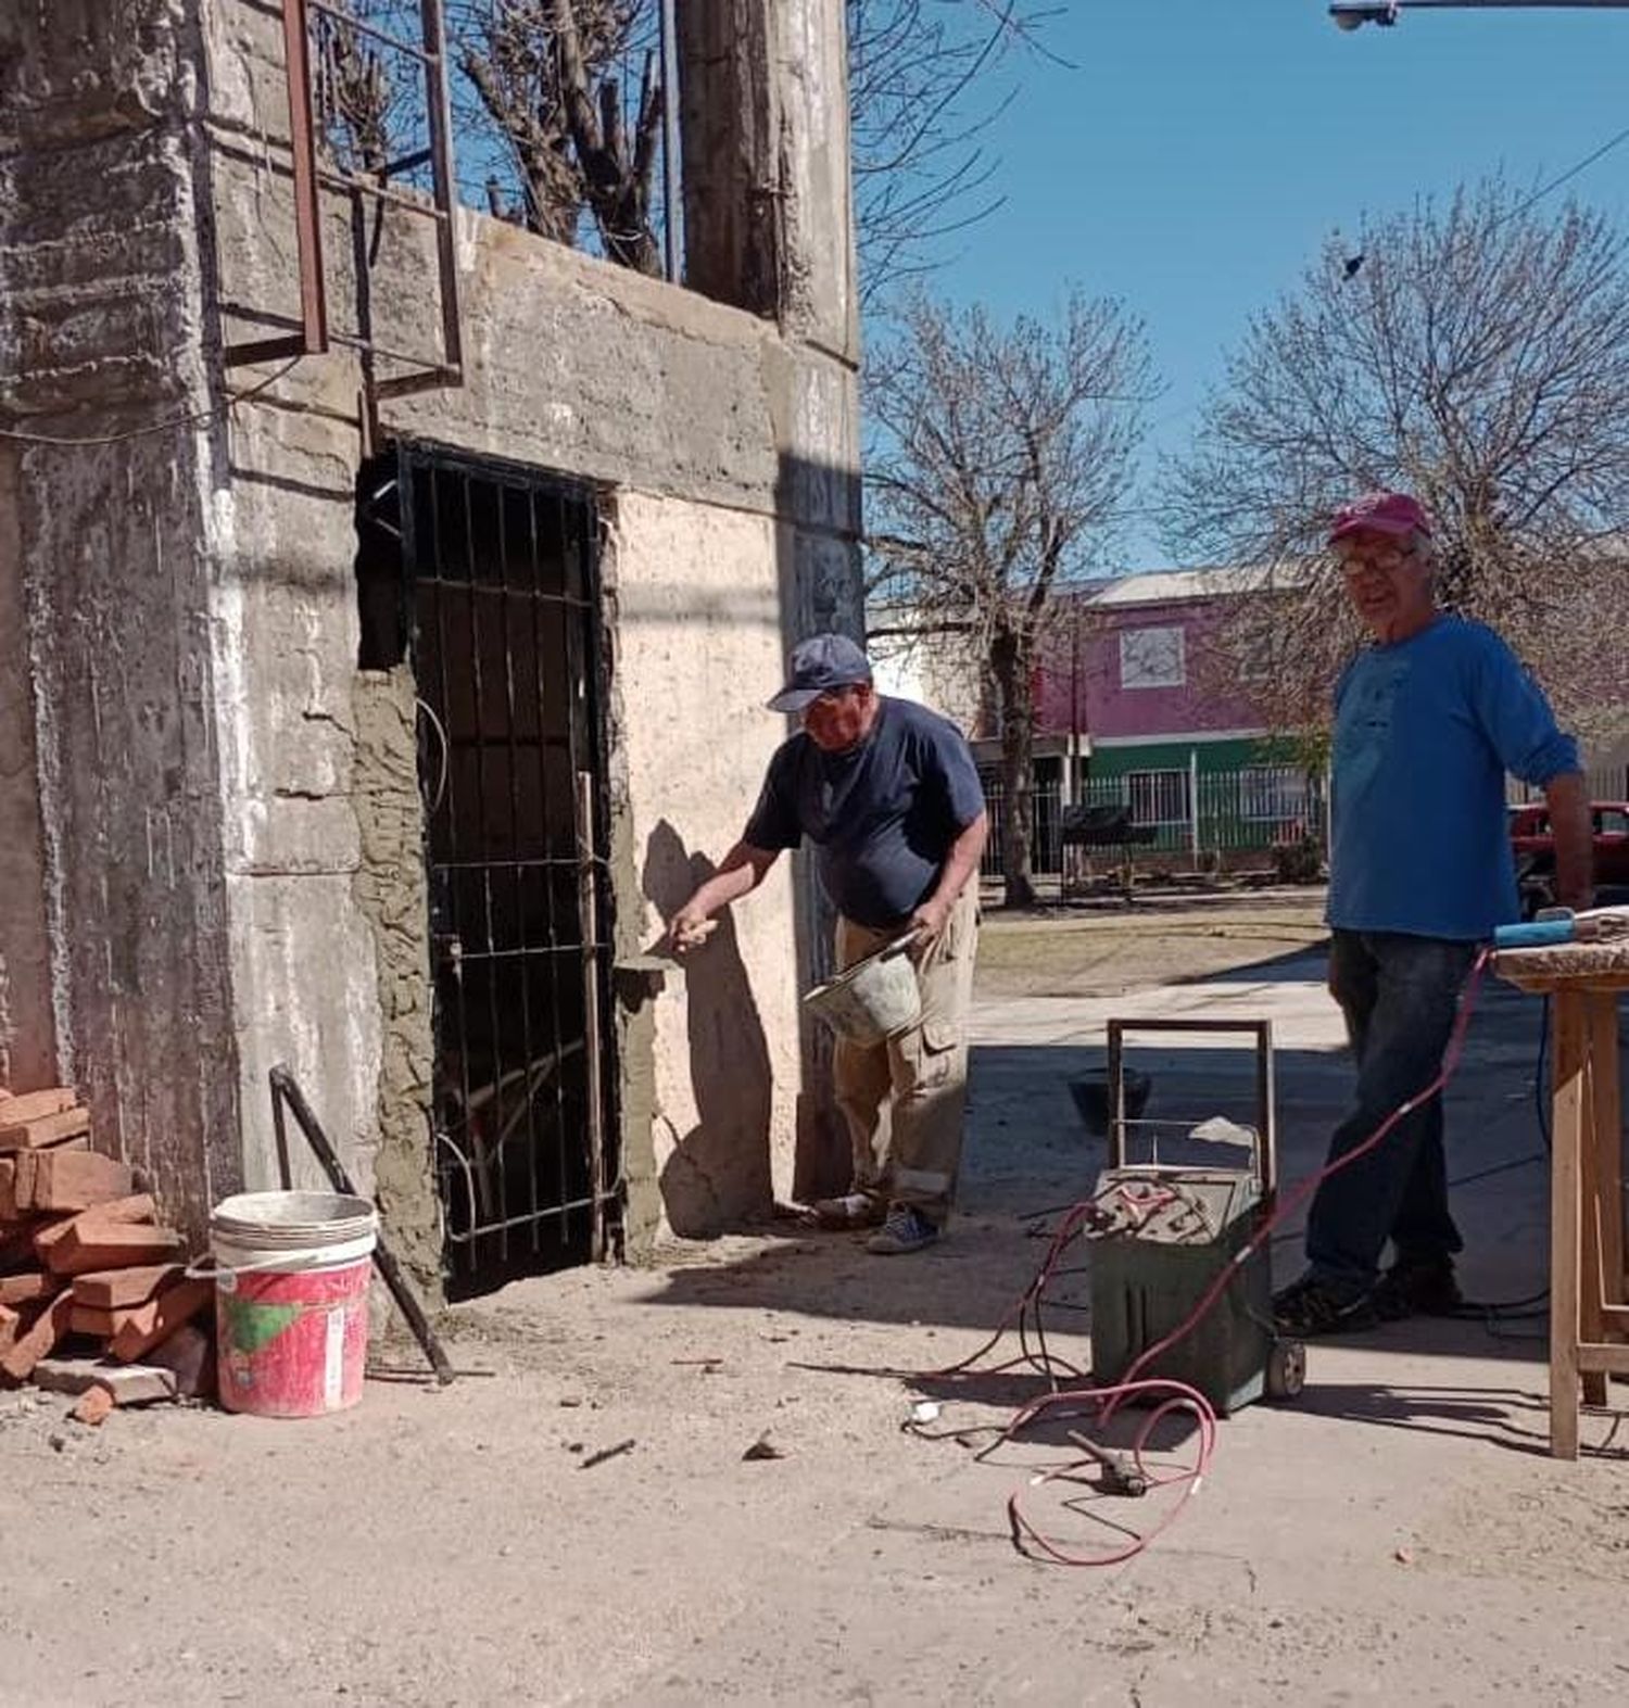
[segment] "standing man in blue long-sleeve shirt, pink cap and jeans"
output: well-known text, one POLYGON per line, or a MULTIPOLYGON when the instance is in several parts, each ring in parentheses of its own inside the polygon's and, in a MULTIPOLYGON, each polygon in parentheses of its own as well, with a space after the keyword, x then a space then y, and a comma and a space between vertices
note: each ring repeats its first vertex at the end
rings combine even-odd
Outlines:
MULTIPOLYGON (((1545 793, 1569 907, 1590 904, 1591 851, 1578 746, 1509 647, 1439 608, 1424 509, 1369 494, 1335 516, 1328 543, 1375 637, 1335 687, 1328 982, 1358 1095, 1334 1161, 1436 1078, 1477 948, 1518 914, 1506 772, 1545 793)), ((1274 1317, 1308 1336, 1451 1312, 1460 1249, 1433 1097, 1318 1187, 1308 1269, 1274 1317)))

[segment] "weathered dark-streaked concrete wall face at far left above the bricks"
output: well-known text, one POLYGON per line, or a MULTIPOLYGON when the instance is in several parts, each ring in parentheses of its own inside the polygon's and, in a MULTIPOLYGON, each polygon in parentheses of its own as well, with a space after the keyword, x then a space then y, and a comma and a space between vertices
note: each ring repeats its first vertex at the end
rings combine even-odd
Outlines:
POLYGON ((0 9, 5 1073, 79 1085, 193 1226, 239 1167, 195 26, 0 9))

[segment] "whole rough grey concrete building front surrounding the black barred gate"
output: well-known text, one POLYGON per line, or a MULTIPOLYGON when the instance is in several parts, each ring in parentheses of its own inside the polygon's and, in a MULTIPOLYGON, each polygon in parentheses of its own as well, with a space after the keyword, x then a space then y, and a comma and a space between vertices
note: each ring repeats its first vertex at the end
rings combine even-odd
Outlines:
MULTIPOLYGON (((603 494, 618 953, 739 832, 791 642, 861 632, 842 7, 750 10, 772 123, 753 109, 715 181, 777 186, 762 313, 461 212, 464 383, 379 422, 603 494)), ((289 1062, 434 1283, 413 683, 357 666, 364 372, 342 348, 220 367, 297 307, 275 9, 82 0, 0 29, 7 424, 210 417, 0 441, 0 1050, 14 1078, 85 1083, 99 1143, 152 1163, 195 1230, 273 1182, 266 1073, 289 1062)), ((323 229, 331 325, 434 355, 427 222, 369 217, 369 289, 348 202, 323 229)), ((826 926, 789 863, 676 992, 628 1003, 635 1249, 840 1167, 796 1006, 826 926)))

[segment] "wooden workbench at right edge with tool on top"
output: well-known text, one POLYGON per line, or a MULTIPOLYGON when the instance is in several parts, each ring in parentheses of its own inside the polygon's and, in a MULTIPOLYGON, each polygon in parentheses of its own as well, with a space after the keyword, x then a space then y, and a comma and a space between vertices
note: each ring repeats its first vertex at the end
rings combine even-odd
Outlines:
POLYGON ((1578 1457, 1578 1402, 1629 1378, 1624 1278, 1624 1117, 1617 1001, 1629 943, 1504 950, 1494 972, 1552 997, 1550 1454, 1578 1457))

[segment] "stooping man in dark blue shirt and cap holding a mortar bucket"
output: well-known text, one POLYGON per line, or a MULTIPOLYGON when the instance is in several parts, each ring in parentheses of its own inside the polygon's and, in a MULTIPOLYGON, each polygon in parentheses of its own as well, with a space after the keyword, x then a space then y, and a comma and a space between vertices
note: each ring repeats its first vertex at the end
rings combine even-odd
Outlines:
POLYGON ((915 933, 922 1018, 873 1047, 838 1040, 837 1102, 854 1143, 854 1182, 814 1209, 833 1226, 881 1223, 869 1247, 915 1252, 944 1228, 961 1160, 966 1011, 977 948, 977 873, 989 834, 966 740, 948 719, 879 695, 847 635, 814 635, 768 702, 803 729, 770 760, 741 840, 674 914, 693 948, 710 915, 755 890, 808 837, 838 910, 842 967, 915 933))

